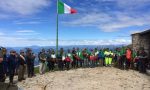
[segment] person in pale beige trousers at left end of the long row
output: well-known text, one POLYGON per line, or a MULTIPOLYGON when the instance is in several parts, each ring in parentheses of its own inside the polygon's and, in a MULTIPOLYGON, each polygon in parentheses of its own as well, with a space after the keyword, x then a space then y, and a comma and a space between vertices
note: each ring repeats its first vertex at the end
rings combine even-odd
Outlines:
POLYGON ((44 74, 45 73, 45 69, 46 69, 46 53, 45 53, 45 49, 42 49, 41 54, 39 55, 40 58, 40 68, 39 68, 39 72, 40 74, 44 74))

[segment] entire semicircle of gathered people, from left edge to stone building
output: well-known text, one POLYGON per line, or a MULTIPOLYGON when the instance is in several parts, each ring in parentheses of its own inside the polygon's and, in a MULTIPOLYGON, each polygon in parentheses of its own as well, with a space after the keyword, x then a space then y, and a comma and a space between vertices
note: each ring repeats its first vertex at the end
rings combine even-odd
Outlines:
MULTIPOLYGON (((131 50, 129 47, 105 49, 79 49, 73 48, 64 50, 61 48, 58 52, 54 49, 42 49, 37 55, 39 59, 39 73, 42 75, 49 71, 69 70, 76 68, 94 68, 98 66, 117 67, 120 69, 135 69, 141 73, 146 72, 150 65, 147 53, 144 48, 131 50)), ((5 82, 6 76, 9 76, 10 84, 13 84, 14 75, 18 75, 18 81, 25 80, 24 74, 27 70, 28 77, 34 77, 34 61, 36 55, 30 48, 16 51, 11 50, 7 55, 5 48, 0 48, 0 82, 5 82)))

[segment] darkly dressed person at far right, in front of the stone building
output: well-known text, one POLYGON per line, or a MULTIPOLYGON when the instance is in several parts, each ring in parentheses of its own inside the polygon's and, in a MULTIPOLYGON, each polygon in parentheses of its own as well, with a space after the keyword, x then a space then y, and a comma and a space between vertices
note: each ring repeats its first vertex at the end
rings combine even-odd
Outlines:
POLYGON ((139 60, 138 60, 138 68, 140 73, 146 72, 146 62, 147 62, 147 53, 144 48, 141 47, 139 51, 139 60))

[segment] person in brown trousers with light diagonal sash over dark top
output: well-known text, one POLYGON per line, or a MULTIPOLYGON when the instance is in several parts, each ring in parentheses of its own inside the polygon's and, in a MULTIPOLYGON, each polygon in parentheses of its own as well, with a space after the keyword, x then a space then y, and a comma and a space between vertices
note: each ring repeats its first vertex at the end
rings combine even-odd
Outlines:
POLYGON ((18 57, 19 62, 19 68, 18 68, 18 81, 21 82, 22 80, 25 80, 24 74, 26 71, 26 57, 25 52, 23 50, 20 50, 20 55, 18 57))

